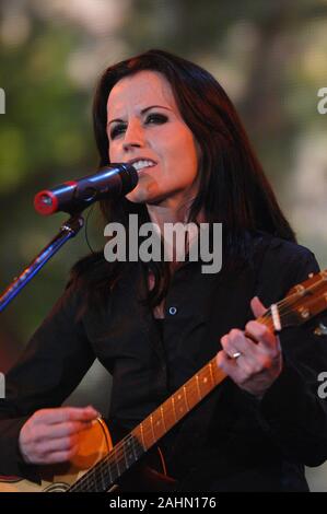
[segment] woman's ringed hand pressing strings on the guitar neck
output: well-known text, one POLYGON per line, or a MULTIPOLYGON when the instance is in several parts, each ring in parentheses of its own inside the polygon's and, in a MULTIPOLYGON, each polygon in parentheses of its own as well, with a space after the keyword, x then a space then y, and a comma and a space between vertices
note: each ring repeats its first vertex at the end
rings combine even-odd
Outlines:
MULTIPOLYGON (((256 317, 266 311, 257 296, 252 300, 250 306, 256 317)), ((242 389, 260 398, 281 372, 280 342, 258 322, 248 322, 245 329, 256 342, 246 337, 244 331, 232 329, 221 338, 223 350, 217 354, 217 364, 242 389)))

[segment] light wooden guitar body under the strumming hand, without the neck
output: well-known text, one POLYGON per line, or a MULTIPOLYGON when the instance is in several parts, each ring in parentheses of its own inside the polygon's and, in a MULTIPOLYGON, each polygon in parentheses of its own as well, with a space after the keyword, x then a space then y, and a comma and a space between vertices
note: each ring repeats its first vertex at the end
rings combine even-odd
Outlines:
MULTIPOLYGON (((80 433, 79 453, 68 463, 42 467, 42 483, 19 477, 0 476, 0 492, 67 492, 83 475, 93 468, 114 448, 112 435, 105 422, 95 420, 89 430, 80 433)), ((175 480, 165 476, 161 451, 151 454, 151 465, 140 463, 112 486, 112 491, 165 491, 172 490, 175 480)))

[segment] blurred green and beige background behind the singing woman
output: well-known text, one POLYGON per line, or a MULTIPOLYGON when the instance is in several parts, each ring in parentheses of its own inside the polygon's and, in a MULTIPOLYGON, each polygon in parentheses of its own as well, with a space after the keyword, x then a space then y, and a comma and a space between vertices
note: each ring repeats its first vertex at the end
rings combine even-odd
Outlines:
MULTIPOLYGON (((327 267, 327 114, 317 110, 318 90, 327 87, 327 0, 1 0, 0 291, 66 219, 37 215, 35 192, 96 166, 91 103, 100 73, 154 47, 198 62, 221 82, 299 242, 327 267)), ((92 213, 95 248, 96 222, 92 213)), ((80 233, 1 314, 0 371, 86 253, 80 233)), ((104 408, 96 389, 107 379, 95 366, 79 392, 104 408)), ((71 401, 85 401, 79 392, 71 401)), ((313 490, 327 490, 324 467, 308 477, 313 490)))

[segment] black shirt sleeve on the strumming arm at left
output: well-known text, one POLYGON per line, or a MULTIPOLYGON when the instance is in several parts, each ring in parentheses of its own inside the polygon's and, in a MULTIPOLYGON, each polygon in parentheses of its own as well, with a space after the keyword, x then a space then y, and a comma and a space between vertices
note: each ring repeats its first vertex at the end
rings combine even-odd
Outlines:
POLYGON ((78 386, 95 357, 79 317, 81 297, 68 288, 5 376, 0 400, 0 475, 37 480, 26 466, 17 439, 36 410, 58 407, 78 386))

